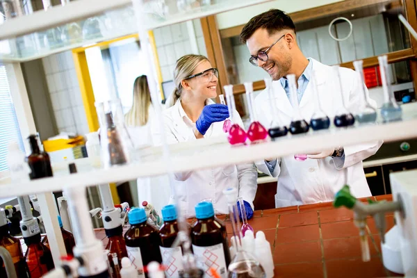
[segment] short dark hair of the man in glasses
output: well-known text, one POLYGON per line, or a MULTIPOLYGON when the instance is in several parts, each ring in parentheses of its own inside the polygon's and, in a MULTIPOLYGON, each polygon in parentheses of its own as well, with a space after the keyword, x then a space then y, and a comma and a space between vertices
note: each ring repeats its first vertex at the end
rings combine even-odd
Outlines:
POLYGON ((293 30, 295 33, 295 25, 293 19, 282 10, 271 9, 268 12, 261 13, 252 17, 240 32, 240 41, 244 44, 259 28, 265 28, 269 35, 284 29, 293 30))

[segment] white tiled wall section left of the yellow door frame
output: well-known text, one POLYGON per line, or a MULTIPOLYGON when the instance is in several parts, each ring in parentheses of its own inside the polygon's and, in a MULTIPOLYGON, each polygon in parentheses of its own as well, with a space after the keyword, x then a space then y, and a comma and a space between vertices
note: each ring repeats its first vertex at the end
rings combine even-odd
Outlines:
POLYGON ((42 58, 59 132, 88 133, 87 117, 70 51, 42 58))

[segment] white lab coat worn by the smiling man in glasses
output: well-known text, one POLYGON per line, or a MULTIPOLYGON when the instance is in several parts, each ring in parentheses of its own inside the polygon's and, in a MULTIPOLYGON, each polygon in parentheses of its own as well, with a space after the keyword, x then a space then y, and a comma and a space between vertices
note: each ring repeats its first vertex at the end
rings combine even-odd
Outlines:
MULTIPOLYGON (((323 65, 314 59, 311 59, 311 62, 313 63, 312 70, 316 75, 322 110, 330 119, 333 119, 339 107, 340 94, 334 88, 336 84, 334 83, 332 67, 323 65)), ((359 75, 353 70, 341 67, 340 76, 345 106, 348 111, 355 115, 361 103, 359 75)), ((291 123, 293 107, 284 88, 282 88, 281 82, 274 81, 272 86, 275 95, 275 99, 272 99, 272 101, 278 107, 281 123, 288 126, 291 123)), ((300 101, 300 110, 307 122, 311 120, 315 110, 313 93, 312 82, 309 81, 300 101)), ((269 101, 266 90, 255 99, 258 119, 261 124, 268 127, 272 120, 269 101)), ((272 172, 268 170, 265 161, 257 162, 256 166, 261 172, 272 177, 278 177, 277 195, 275 195, 275 206, 277 208, 332 201, 335 193, 345 184, 350 186, 352 195, 355 197, 367 197, 371 193, 363 172, 362 160, 375 154, 381 145, 382 141, 344 146, 344 163, 341 163, 341 159, 330 157, 295 161, 293 156, 286 156, 277 158, 277 164, 272 172)), ((329 148, 333 147, 329 146, 329 148)))

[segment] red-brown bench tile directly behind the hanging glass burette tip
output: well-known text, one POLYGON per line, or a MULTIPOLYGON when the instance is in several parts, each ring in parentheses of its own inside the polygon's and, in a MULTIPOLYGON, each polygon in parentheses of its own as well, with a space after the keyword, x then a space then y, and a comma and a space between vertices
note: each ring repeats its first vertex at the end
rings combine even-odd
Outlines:
MULTIPOLYGON (((372 239, 368 236, 370 256, 377 256, 378 252, 373 245, 372 239)), ((359 236, 352 238, 334 238, 323 240, 325 259, 343 259, 361 257, 361 243, 359 236)))

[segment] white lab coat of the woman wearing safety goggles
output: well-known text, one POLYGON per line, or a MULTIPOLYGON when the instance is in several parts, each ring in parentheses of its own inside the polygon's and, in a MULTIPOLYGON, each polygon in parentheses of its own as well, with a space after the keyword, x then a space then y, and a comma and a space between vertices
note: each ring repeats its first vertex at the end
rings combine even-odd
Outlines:
MULTIPOLYGON (((214 104, 214 102, 208 99, 206 104, 214 104)), ((177 101, 174 106, 165 110, 163 115, 165 120, 165 136, 168 144, 197 140, 193 133, 193 124, 186 117, 186 113, 181 106, 181 101, 177 101)), ((234 117, 238 124, 243 126, 243 122, 237 111, 235 111, 234 117)), ((204 138, 225 136, 222 129, 223 123, 215 122, 211 124, 204 138)), ((160 136, 156 127, 154 129, 154 141, 156 141, 156 138, 160 138, 160 136)), ((157 145, 161 145, 161 142, 158 142, 157 145)), ((216 213, 228 213, 227 199, 224 197, 222 191, 229 187, 238 189, 238 195, 249 202, 253 208, 252 202, 256 194, 257 177, 258 174, 254 163, 247 163, 243 165, 229 165, 226 167, 175 173, 172 186, 176 188, 181 210, 189 218, 195 216, 195 205, 203 199, 211 199, 216 213)), ((170 203, 174 202, 174 196, 171 196, 170 203)))

